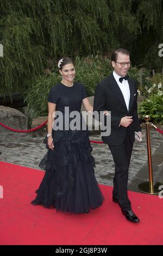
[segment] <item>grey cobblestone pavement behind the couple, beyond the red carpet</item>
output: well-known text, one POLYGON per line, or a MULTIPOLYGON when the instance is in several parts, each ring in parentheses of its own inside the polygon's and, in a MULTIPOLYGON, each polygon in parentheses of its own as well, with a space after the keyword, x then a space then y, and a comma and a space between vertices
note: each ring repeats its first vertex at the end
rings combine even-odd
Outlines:
MULTIPOLYGON (((143 166, 147 166, 147 145, 145 130, 142 130, 143 142, 134 143, 133 154, 131 156, 129 168, 129 181, 131 184, 136 175, 140 172, 143 166)), ((44 137, 32 137, 31 133, 0 133, 0 161, 19 164, 30 168, 39 169, 39 162, 46 154, 47 149, 43 144, 44 137)), ((101 141, 100 135, 92 135, 90 139, 101 141)), ((163 145, 163 136, 151 130, 151 147, 152 155, 163 145)), ((114 162, 110 153, 109 147, 106 144, 91 144, 93 151, 92 155, 96 160, 95 175, 100 184, 113 184, 114 177, 114 162)), ((163 154, 161 154, 163 161, 163 154)), ((160 163, 160 160, 159 160, 160 163)), ((160 163, 161 166, 163 162, 160 163)), ((143 176, 142 176, 143 178, 143 176)), ((160 175, 160 179, 162 176, 160 175)), ((163 178, 162 178, 163 179, 163 178)), ((161 181, 161 180, 160 180, 161 181)), ((132 190, 132 189, 130 189, 132 190)))

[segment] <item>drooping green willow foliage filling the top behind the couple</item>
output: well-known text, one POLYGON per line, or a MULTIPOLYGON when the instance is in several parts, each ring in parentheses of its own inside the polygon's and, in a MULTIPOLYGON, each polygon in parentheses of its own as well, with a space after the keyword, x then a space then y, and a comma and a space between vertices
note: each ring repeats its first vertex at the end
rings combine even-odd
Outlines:
POLYGON ((161 0, 1 0, 0 92, 30 87, 49 59, 126 47, 135 64, 161 69, 161 0))

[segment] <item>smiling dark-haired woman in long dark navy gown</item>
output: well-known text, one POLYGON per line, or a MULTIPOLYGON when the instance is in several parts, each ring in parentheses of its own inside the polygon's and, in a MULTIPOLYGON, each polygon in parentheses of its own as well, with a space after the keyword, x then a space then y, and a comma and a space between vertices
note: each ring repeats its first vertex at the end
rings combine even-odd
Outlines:
POLYGON ((72 60, 68 57, 60 59, 58 68, 62 81, 52 87, 48 95, 48 134, 45 139, 48 151, 39 164, 46 172, 31 203, 74 214, 88 213, 101 206, 104 198, 95 178, 95 160, 91 155, 88 131, 71 130, 70 127, 67 130, 65 109, 68 107, 70 113, 80 113, 82 103, 86 111, 93 109, 83 84, 73 82, 76 71, 72 60), (53 123, 56 111, 63 116, 58 130, 53 129, 57 121, 55 117, 53 123))

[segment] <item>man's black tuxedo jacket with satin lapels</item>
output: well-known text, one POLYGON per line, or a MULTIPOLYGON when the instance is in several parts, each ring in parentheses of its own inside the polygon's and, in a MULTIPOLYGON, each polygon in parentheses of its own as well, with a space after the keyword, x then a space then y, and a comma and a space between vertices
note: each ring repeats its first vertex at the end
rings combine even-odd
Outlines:
POLYGON ((93 111, 111 111, 111 133, 103 136, 103 142, 109 145, 121 145, 126 132, 129 132, 130 142, 135 141, 135 131, 141 131, 140 121, 137 117, 137 88, 136 81, 128 78, 130 88, 129 111, 123 94, 113 74, 102 80, 96 87, 93 111), (133 117, 133 122, 126 128, 120 126, 122 117, 133 117))

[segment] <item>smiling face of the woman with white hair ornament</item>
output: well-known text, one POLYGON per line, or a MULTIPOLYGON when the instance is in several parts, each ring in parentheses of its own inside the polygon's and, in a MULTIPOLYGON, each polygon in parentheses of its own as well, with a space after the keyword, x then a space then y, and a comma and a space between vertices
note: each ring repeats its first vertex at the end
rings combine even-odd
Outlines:
POLYGON ((62 70, 59 70, 59 72, 62 75, 63 80, 68 82, 72 82, 76 74, 76 70, 74 69, 74 65, 72 63, 62 66, 62 70))

